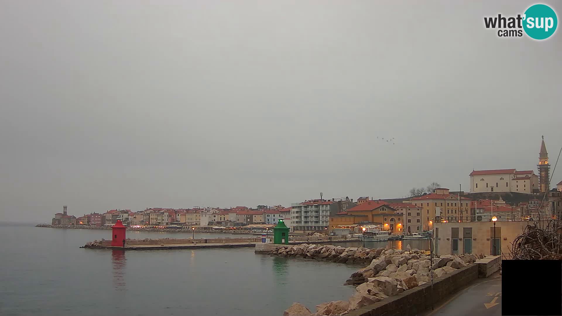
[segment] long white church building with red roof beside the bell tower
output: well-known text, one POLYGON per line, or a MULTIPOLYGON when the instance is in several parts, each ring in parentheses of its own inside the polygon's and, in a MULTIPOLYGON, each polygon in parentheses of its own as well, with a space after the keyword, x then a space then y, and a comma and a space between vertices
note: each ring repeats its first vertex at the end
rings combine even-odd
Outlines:
POLYGON ((533 193, 538 189, 538 175, 533 170, 515 169, 473 170, 470 173, 470 192, 533 193))

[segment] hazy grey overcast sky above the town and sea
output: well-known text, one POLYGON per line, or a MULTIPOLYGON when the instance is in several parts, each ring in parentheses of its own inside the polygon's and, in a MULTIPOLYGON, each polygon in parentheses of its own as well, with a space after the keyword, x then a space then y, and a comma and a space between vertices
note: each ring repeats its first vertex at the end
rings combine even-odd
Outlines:
POLYGON ((533 3, 2 0, 0 220, 468 191, 542 134, 554 165, 562 30, 483 26, 533 3))

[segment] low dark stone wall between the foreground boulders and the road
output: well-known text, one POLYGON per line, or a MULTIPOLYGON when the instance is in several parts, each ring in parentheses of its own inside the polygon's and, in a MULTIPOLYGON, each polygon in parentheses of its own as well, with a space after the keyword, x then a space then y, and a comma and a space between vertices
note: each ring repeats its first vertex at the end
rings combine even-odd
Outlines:
POLYGON ((434 306, 439 301, 445 300, 461 287, 468 285, 478 278, 478 266, 469 264, 452 273, 447 273, 441 278, 434 278, 433 290, 431 282, 406 290, 398 295, 388 297, 375 304, 366 305, 357 310, 352 310, 348 316, 402 316, 417 315, 431 308, 433 298, 434 306))

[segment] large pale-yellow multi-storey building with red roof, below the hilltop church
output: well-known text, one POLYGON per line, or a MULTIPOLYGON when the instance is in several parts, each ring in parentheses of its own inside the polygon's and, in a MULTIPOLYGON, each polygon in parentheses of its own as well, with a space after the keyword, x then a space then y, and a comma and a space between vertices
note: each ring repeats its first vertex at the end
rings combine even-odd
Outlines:
MULTIPOLYGON (((463 222, 470 220, 470 198, 460 197, 449 193, 447 188, 437 188, 428 195, 413 197, 404 201, 422 207, 420 229, 430 231, 433 229, 435 216, 466 216, 463 222)), ((460 219, 460 218, 459 218, 460 219)), ((415 223, 418 227, 418 223, 415 223)), ((416 229, 418 231, 418 229, 416 229)))

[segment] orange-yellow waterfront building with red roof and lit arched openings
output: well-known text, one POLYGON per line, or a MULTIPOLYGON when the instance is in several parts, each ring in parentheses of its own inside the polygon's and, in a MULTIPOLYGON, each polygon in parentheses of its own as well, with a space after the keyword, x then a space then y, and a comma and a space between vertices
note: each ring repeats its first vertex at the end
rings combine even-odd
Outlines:
POLYGON ((404 227, 403 219, 402 214, 396 214, 396 210, 384 201, 365 201, 345 212, 330 216, 330 229, 351 228, 359 232, 357 227, 361 225, 379 224, 386 231, 401 234, 404 227))

